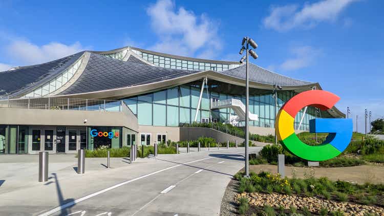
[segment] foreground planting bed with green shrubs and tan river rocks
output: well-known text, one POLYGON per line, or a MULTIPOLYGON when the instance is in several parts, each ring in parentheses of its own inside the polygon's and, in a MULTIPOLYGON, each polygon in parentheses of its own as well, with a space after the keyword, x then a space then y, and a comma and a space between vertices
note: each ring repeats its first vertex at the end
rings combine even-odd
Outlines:
POLYGON ((383 184, 352 184, 325 177, 281 178, 269 172, 234 176, 238 213, 244 215, 384 215, 383 184))

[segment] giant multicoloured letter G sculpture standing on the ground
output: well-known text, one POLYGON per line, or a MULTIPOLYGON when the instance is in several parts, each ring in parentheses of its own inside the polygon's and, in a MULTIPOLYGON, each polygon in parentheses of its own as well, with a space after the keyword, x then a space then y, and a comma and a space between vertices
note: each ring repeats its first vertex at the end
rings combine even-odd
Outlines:
POLYGON ((302 142, 294 132, 294 117, 305 106, 321 110, 331 109, 340 98, 323 90, 306 91, 295 95, 280 109, 276 121, 276 133, 283 147, 293 155, 309 160, 324 161, 341 154, 352 137, 352 119, 309 120, 310 133, 329 133, 325 142, 310 146, 302 142))

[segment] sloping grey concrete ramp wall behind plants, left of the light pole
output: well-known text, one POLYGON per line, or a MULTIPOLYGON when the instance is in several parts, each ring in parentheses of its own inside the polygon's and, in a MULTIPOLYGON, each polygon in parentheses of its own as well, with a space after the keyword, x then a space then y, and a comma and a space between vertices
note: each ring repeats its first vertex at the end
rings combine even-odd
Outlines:
POLYGON ((208 127, 180 127, 180 140, 197 140, 199 137, 212 137, 218 142, 235 142, 238 140, 238 143, 244 142, 244 139, 231 136, 229 134, 216 131, 215 129, 208 127))

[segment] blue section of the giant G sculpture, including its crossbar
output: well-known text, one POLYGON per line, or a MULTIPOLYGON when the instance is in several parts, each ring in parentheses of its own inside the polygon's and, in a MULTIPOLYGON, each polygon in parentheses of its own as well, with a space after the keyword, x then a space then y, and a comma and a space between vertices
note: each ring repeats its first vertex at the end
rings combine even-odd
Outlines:
POLYGON ((352 119, 311 119, 310 133, 329 133, 324 143, 329 143, 343 152, 352 138, 352 119))

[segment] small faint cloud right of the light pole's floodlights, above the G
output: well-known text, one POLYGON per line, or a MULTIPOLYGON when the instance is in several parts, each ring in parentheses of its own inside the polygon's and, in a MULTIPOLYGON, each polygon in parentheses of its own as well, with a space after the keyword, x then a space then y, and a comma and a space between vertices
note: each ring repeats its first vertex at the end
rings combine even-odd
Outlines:
POLYGON ((279 69, 293 71, 308 67, 314 62, 314 59, 321 53, 321 51, 310 46, 303 46, 293 48, 291 53, 294 57, 286 59, 280 64, 278 67, 279 69))

